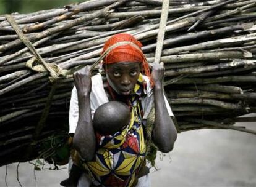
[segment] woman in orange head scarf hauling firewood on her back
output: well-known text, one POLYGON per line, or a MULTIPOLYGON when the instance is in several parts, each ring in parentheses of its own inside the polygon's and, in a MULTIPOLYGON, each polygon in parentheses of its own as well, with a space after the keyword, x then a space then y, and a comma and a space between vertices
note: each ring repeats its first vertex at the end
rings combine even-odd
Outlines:
POLYGON ((79 153, 76 157, 88 172, 80 178, 79 185, 149 185, 148 175, 139 176, 145 165, 145 119, 152 106, 155 106, 153 143, 163 153, 173 149, 177 132, 170 117, 173 113, 164 97, 163 63, 153 64, 150 74, 141 47, 139 41, 125 33, 116 34, 106 41, 103 47, 103 54, 107 54, 103 59, 106 88, 101 74, 91 79, 90 66, 74 73, 70 135, 74 135, 73 146, 79 153), (121 132, 101 136, 93 128, 93 114, 110 100, 126 103, 132 117, 121 132))

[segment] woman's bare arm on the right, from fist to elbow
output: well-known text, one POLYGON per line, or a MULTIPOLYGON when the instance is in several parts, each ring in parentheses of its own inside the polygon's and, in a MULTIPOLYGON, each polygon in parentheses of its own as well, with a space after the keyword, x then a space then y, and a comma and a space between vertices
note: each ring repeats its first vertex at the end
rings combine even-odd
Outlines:
POLYGON ((163 63, 160 63, 160 65, 153 64, 152 68, 152 78, 155 82, 155 126, 153 129, 153 142, 161 152, 168 153, 173 149, 174 141, 177 138, 177 130, 164 102, 163 63))

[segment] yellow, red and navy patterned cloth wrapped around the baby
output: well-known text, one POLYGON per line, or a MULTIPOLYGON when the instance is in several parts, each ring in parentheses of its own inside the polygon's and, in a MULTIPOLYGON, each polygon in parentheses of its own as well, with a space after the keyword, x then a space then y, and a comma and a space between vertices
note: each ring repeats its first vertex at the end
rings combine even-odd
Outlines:
POLYGON ((140 98, 145 97, 145 83, 140 74, 129 98, 132 117, 130 124, 114 135, 97 134, 98 149, 95 160, 83 163, 93 178, 94 185, 132 186, 140 168, 145 164, 145 138, 140 98))

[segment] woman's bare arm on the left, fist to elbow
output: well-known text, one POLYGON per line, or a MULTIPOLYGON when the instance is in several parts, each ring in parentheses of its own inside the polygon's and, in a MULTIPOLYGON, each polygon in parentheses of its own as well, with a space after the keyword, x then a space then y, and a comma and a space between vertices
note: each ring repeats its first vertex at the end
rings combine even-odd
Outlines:
POLYGON ((90 108, 90 92, 92 87, 90 66, 85 66, 74 73, 75 87, 79 105, 79 119, 75 129, 73 146, 85 161, 95 156, 96 137, 90 108))

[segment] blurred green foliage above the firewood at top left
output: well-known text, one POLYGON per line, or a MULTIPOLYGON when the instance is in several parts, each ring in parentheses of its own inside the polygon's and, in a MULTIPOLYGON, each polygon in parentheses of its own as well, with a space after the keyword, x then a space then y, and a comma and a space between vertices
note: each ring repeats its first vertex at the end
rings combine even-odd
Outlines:
POLYGON ((55 9, 67 4, 84 2, 85 0, 0 0, 0 15, 19 12, 19 14, 38 10, 55 9))

